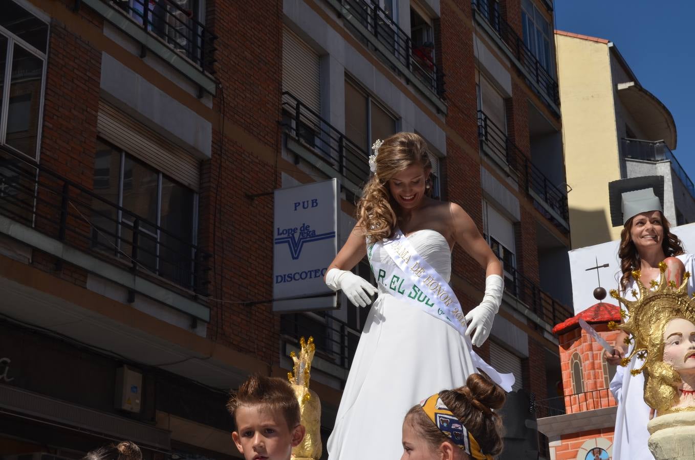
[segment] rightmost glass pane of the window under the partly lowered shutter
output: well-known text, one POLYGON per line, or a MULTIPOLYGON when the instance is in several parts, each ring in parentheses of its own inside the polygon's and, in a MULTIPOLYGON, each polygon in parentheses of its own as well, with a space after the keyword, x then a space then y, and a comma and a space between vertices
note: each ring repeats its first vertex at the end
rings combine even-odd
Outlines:
POLYGON ((183 286, 190 285, 193 270, 193 190, 162 177, 161 233, 159 273, 183 286))

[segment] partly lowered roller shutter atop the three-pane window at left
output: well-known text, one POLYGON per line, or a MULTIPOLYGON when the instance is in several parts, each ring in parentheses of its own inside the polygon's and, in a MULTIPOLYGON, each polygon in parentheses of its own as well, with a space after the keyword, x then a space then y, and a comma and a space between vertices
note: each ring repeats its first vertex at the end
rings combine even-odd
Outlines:
POLYGON ((193 191, 199 190, 200 167, 196 157, 105 101, 99 101, 97 132, 99 137, 138 157, 165 176, 193 191))

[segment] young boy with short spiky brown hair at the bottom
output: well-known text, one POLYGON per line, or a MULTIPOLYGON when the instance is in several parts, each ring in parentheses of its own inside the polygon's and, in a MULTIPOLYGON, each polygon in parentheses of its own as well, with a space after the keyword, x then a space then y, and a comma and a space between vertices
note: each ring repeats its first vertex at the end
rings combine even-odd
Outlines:
POLYGON ((245 460, 290 460, 304 438, 300 404, 284 380, 252 375, 229 398, 227 410, 236 424, 231 438, 245 460))

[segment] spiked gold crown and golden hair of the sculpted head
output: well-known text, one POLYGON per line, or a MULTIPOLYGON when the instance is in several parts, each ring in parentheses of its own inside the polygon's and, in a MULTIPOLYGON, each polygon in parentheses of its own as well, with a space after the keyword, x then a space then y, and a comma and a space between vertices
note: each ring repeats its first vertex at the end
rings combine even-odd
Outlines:
POLYGON ((634 343, 630 353, 621 360, 621 366, 627 366, 634 357, 644 359, 639 367, 635 364, 630 373, 638 375, 644 371, 644 400, 661 414, 668 411, 678 399, 676 387, 680 383, 680 379, 676 382, 673 378, 675 371, 664 367, 670 367, 663 362, 664 328, 673 318, 685 318, 695 323, 695 303, 687 293, 690 273, 683 273, 682 283, 677 286, 675 282, 667 281, 664 274, 667 265, 664 262, 659 263, 659 269, 659 280, 652 280, 649 287, 641 281, 639 270, 632 271, 632 278, 637 284, 637 289, 632 290, 635 300, 621 297, 615 289, 610 291, 611 297, 619 300, 627 310, 627 315, 621 316, 628 318, 621 325, 610 326, 628 333, 626 344, 634 343), (665 377, 667 375, 668 378, 665 377))

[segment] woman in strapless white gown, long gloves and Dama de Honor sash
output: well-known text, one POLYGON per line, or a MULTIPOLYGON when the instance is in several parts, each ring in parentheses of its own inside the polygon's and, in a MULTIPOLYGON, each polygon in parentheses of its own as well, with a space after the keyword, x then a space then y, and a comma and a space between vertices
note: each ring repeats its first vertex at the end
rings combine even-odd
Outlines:
POLYGON ((398 133, 377 142, 370 167, 357 225, 326 273, 326 284, 342 289, 354 305, 366 307, 378 293, 328 441, 332 460, 398 459, 409 407, 425 394, 463 386, 482 366, 461 332, 475 331, 472 343, 482 345, 502 299, 501 264, 471 217, 455 203, 428 196, 432 164, 425 141, 398 133), (403 258, 390 252, 393 241, 403 258), (452 310, 455 318, 436 317, 457 305, 451 305, 455 295, 448 287, 455 244, 485 270, 485 295, 465 318, 460 309, 452 310), (350 272, 368 252, 378 288, 350 272), (435 278, 439 283, 432 284, 435 278))

